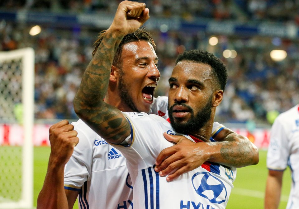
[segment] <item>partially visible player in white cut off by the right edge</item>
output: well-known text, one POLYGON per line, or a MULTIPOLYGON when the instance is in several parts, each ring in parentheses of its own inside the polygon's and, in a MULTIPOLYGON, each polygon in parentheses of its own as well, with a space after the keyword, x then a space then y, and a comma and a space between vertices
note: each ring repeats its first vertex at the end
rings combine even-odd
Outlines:
POLYGON ((265 208, 277 209, 280 202, 283 171, 290 167, 292 187, 287 209, 299 208, 299 105, 280 114, 271 128, 267 153, 269 170, 265 208))

